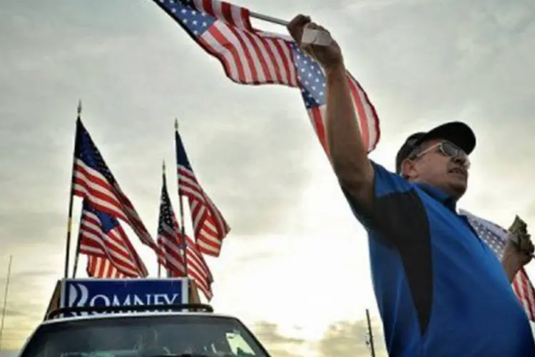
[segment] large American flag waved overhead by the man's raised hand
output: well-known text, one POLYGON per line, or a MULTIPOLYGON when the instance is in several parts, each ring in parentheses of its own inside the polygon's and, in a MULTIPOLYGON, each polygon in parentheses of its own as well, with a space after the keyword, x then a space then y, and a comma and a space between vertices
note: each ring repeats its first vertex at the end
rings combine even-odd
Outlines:
MULTIPOLYGON (((289 36, 254 29, 250 11, 217 0, 153 0, 208 54, 219 59, 238 84, 282 84, 299 88, 312 126, 328 154, 325 76, 289 36)), ((347 73, 355 113, 367 151, 379 141, 379 119, 360 84, 347 73)))

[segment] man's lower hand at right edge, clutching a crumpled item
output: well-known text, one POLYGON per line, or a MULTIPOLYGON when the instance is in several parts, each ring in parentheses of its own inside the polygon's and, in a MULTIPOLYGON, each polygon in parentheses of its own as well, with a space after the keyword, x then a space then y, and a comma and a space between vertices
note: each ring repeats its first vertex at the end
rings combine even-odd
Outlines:
POLYGON ((516 216, 509 228, 504 258, 501 260, 509 281, 513 281, 516 273, 531 261, 534 251, 535 247, 531 242, 531 235, 527 231, 527 224, 519 216, 516 216))

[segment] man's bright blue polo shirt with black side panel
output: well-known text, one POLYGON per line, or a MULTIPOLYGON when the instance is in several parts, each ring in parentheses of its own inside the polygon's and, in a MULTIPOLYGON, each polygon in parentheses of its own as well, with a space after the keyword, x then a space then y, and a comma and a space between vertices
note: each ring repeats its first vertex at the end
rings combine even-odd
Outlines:
POLYGON ((372 281, 391 357, 534 357, 529 320, 501 263, 454 201, 372 162, 372 281))

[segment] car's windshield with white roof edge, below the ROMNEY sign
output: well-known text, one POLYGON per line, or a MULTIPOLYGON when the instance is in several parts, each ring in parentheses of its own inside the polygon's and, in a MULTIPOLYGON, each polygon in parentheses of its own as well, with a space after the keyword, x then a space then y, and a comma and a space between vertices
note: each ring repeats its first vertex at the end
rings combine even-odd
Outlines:
POLYGON ((235 318, 121 316, 40 326, 20 357, 268 357, 235 318))

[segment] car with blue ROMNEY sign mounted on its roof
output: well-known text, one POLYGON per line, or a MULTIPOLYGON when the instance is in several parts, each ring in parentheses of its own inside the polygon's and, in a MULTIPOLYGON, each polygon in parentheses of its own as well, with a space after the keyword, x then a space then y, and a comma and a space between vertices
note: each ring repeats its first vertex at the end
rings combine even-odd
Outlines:
POLYGON ((270 357, 188 278, 66 278, 19 357, 270 357))

